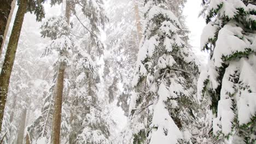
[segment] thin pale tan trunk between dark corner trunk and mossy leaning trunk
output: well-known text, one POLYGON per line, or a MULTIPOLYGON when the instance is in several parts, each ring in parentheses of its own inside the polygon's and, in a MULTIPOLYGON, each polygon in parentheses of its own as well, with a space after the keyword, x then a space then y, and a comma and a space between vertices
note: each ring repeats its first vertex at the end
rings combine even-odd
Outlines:
MULTIPOLYGON (((13 17, 13 11, 15 9, 15 5, 16 5, 16 0, 13 0, 13 2, 11 2, 11 9, 10 9, 10 14, 8 16, 8 20, 7 20, 7 24, 6 24, 6 27, 5 27, 5 30, 4 30, 4 35, 3 35, 3 39, 2 39, 2 44, 1 44, 1 47, 0 47, 0 58, 1 58, 1 54, 2 54, 2 51, 3 51, 3 46, 4 46, 4 42, 5 42, 5 39, 7 37, 7 33, 8 33, 8 30, 9 30, 9 26, 10 26, 10 22, 11 22, 11 18, 13 17)), ((0 10, 0 13, 1 13, 1 10, 0 10)), ((0 14, 1 15, 1 14, 0 14)), ((1 20, 0 20, 1 21, 1 20)), ((2 31, 2 30, 1 30, 2 31)), ((0 34, 1 35, 1 34, 0 34)))

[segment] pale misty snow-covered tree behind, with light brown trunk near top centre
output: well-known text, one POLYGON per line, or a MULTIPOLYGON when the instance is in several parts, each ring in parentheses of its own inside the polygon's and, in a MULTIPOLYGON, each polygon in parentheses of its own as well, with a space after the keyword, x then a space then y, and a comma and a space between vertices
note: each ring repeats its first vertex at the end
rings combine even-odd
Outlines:
MULTIPOLYGON (((132 74, 136 67, 141 25, 141 1, 108 1, 106 29, 105 74, 109 99, 117 99, 125 115, 128 116, 131 97, 132 74), (135 5, 137 5, 135 7, 135 5), (137 19, 136 19, 137 18, 137 19), (137 23, 138 21, 138 23, 137 23)), ((142 30, 141 30, 142 31, 142 30)))

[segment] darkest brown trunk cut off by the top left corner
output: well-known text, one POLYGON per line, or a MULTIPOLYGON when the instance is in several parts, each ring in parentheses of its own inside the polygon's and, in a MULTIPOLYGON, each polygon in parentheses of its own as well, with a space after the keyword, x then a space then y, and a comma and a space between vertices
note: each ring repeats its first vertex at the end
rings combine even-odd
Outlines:
MULTIPOLYGON (((0 45, 2 46, 4 39, 4 32, 7 26, 8 17, 11 11, 12 0, 0 0, 0 45)), ((2 49, 0 49, 0 55, 2 49)))

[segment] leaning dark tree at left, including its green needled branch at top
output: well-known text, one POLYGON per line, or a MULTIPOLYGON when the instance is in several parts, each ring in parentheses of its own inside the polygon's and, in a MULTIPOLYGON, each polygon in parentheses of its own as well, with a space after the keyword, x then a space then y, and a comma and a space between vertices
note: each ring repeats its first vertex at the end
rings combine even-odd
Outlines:
MULTIPOLYGON (((2 130, 2 121, 3 121, 5 103, 7 100, 10 76, 11 76, 11 71, 13 69, 15 54, 18 47, 24 15, 27 11, 29 11, 30 13, 33 12, 36 15, 37 21, 42 20, 44 17, 44 8, 42 3, 44 3, 44 1, 27 1, 27 0, 21 0, 18 3, 19 8, 14 20, 14 26, 11 31, 9 43, 7 46, 7 51, 4 57, 3 67, 0 74, 0 79, 1 79, 0 81, 0 130, 2 130)), ((2 45, 2 41, 1 41, 1 45, 2 45)))

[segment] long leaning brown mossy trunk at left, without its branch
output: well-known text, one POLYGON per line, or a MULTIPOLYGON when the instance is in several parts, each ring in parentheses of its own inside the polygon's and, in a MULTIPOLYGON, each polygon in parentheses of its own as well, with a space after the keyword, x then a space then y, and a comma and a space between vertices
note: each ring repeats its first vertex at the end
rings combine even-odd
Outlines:
MULTIPOLYGON (((4 5, 4 4, 2 4, 1 2, 0 5, 4 5)), ((7 47, 2 71, 0 74, 0 80, 1 80, 0 81, 0 131, 2 130, 2 121, 3 121, 5 103, 7 99, 11 70, 13 69, 15 53, 16 53, 18 41, 20 38, 20 32, 21 32, 22 22, 24 20, 24 15, 26 13, 26 8, 27 8, 27 0, 20 0, 20 5, 15 17, 13 30, 11 31, 9 44, 7 47)))

